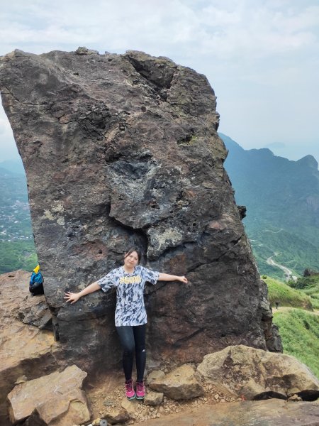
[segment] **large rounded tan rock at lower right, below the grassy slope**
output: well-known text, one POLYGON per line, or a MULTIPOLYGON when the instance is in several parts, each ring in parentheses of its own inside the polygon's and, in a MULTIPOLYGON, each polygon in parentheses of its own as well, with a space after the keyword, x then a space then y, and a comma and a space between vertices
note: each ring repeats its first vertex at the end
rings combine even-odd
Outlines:
POLYGON ((204 380, 223 393, 253 400, 269 397, 303 400, 319 397, 319 381, 293 356, 247 346, 229 346, 204 356, 197 367, 204 380))

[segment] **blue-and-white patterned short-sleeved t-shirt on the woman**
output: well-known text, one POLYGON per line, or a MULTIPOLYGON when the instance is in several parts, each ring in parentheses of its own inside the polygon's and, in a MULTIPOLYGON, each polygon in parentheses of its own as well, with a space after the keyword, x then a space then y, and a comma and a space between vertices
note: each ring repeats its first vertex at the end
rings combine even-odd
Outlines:
POLYGON ((145 282, 156 284, 159 272, 143 266, 135 266, 133 273, 126 273, 123 266, 113 269, 96 281, 103 291, 116 288, 116 327, 142 325, 147 323, 144 305, 145 282))

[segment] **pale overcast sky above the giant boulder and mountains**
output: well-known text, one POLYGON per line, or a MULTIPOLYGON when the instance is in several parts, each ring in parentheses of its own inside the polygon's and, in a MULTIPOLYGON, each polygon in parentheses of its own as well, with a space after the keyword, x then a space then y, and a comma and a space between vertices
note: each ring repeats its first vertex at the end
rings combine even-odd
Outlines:
MULTIPOLYGON (((220 131, 319 161, 318 0, 1 0, 0 55, 142 50, 208 77, 220 131)), ((15 158, 0 105, 0 161, 15 158)))

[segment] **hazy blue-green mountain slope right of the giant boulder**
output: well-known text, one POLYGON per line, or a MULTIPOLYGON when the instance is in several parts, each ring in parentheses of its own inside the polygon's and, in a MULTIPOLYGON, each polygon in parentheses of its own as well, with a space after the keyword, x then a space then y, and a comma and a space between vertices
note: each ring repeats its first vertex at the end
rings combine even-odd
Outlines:
POLYGON ((225 168, 235 189, 237 204, 247 207, 244 219, 261 273, 284 278, 267 264, 276 263, 302 274, 319 269, 319 171, 311 155, 291 161, 267 148, 241 148, 220 133, 228 148, 225 168))

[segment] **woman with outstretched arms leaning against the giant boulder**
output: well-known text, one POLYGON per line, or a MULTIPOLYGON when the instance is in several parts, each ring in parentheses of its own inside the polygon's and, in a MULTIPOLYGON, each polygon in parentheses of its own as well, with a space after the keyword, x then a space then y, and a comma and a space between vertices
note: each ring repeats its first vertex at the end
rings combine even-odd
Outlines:
POLYGON ((65 293, 67 302, 75 303, 80 297, 96 290, 107 291, 116 288, 116 330, 123 347, 123 370, 125 374, 125 395, 129 400, 145 397, 145 329, 147 315, 144 305, 145 282, 156 284, 159 281, 181 281, 187 283, 184 276, 150 271, 140 266, 141 253, 132 247, 124 255, 124 265, 113 269, 105 277, 88 285, 79 293, 65 293), (136 393, 133 388, 132 370, 135 351, 137 381, 136 393))

